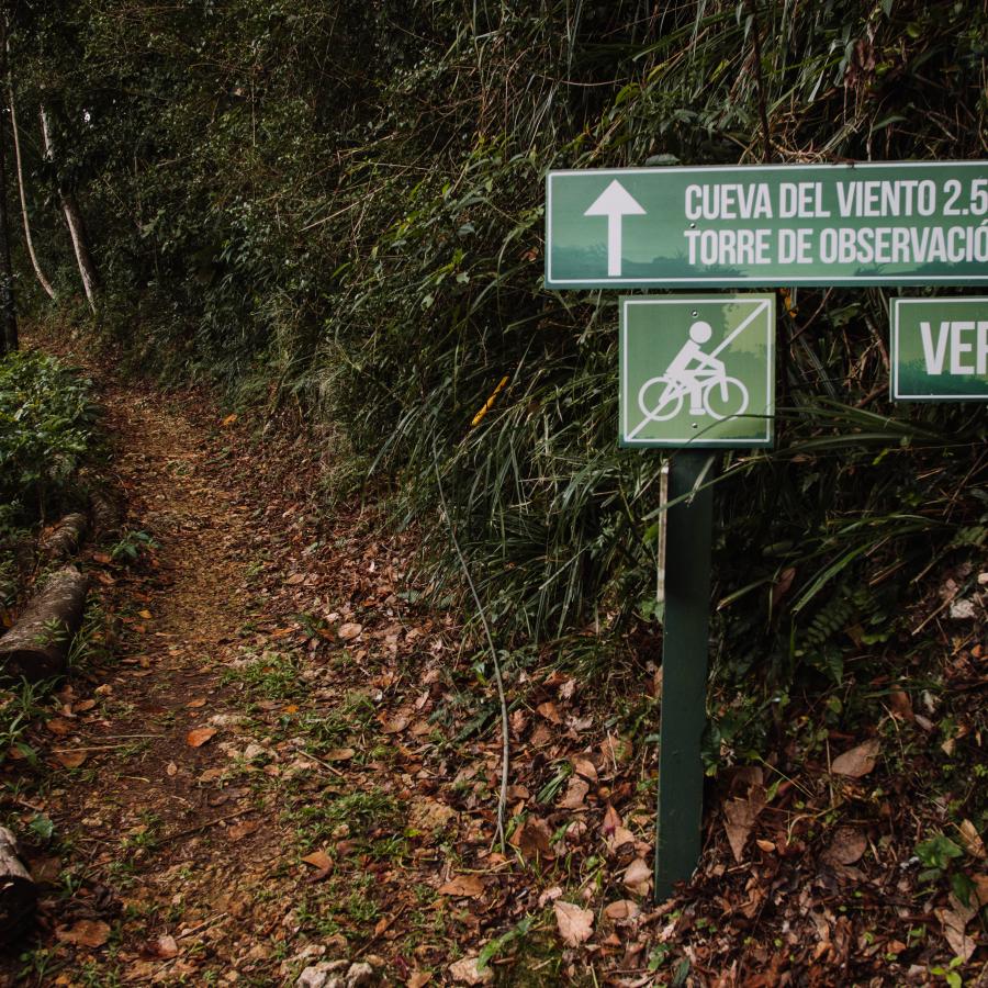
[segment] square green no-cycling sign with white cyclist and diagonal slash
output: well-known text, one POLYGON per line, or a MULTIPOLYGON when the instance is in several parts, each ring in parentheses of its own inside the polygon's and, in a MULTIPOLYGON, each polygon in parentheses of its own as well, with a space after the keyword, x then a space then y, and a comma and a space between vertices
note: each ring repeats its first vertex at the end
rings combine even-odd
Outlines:
POLYGON ((774 295, 620 300, 620 444, 771 446, 774 295))

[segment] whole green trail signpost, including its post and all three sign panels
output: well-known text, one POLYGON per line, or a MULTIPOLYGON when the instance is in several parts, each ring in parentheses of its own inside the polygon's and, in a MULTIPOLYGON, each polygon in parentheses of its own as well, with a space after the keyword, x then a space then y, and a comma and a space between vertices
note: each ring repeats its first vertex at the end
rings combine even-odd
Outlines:
MULTIPOLYGON (((546 288, 988 284, 988 161, 551 171, 546 288)), ((892 397, 988 400, 988 299, 895 300, 892 397)), ((620 436, 666 447, 655 896, 700 851, 709 451, 773 442, 772 295, 620 300, 620 436)))

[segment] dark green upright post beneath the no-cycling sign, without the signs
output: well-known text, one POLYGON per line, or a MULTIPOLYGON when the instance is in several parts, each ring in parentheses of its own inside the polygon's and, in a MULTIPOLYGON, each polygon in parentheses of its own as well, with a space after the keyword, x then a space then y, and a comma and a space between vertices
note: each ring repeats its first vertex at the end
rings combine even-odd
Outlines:
MULTIPOLYGON (((669 499, 688 495, 709 467, 709 452, 673 453, 669 499)), ((670 508, 665 520, 656 901, 672 895, 674 883, 689 878, 700 852, 704 808, 700 739, 706 725, 712 504, 709 487, 697 491, 692 499, 670 508)))

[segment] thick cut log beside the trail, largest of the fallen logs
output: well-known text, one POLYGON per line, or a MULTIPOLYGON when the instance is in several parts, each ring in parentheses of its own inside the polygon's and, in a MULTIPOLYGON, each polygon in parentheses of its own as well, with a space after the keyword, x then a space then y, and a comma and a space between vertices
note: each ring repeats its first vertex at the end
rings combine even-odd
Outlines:
POLYGON ((14 626, 0 638, 0 677, 31 683, 65 672, 69 647, 82 624, 88 590, 75 566, 53 573, 14 626))

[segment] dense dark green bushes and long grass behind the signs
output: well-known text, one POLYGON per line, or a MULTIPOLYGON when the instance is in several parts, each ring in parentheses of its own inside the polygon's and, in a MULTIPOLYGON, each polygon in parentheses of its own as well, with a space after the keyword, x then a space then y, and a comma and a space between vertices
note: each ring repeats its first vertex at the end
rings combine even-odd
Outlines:
MULTIPOLYGON (((659 461, 616 448, 614 293, 541 288, 546 171, 988 136, 980 3, 76 0, 13 27, 21 117, 56 132, 52 160, 23 143, 61 296, 68 188, 136 364, 339 424, 328 493, 375 479, 434 546, 438 460, 502 641, 590 624, 590 664, 653 619, 659 461)), ((718 675, 765 688, 721 740, 804 672, 842 682, 849 641, 880 654, 931 561, 984 541, 984 415, 887 401, 887 301, 781 295, 778 448, 728 457, 717 497, 718 675)))

